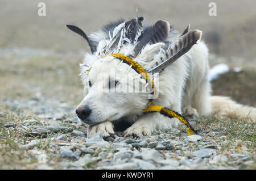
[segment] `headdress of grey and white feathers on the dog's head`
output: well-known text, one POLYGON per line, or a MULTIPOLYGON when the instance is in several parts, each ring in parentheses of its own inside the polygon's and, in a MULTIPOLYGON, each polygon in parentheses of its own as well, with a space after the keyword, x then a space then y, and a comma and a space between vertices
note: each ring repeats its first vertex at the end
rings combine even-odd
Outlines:
MULTIPOLYGON (((180 37, 177 37, 174 42, 168 41, 170 24, 166 21, 159 20, 154 26, 143 28, 143 17, 133 18, 119 23, 117 26, 112 27, 108 33, 104 32, 104 36, 99 40, 94 40, 93 36, 86 36, 84 31, 76 26, 67 25, 67 27, 84 37, 88 42, 91 54, 86 54, 89 58, 84 67, 85 71, 89 71, 94 60, 97 58, 105 57, 105 55, 112 53, 120 53, 130 58, 135 58, 138 64, 144 65, 143 60, 139 58, 141 52, 147 49, 148 45, 156 43, 163 43, 164 47, 158 46, 158 51, 155 56, 150 60, 151 67, 146 70, 150 73, 160 72, 167 66, 171 65, 183 54, 187 53, 194 44, 200 40, 202 32, 199 30, 189 31, 188 26, 180 37), (168 45, 169 44, 169 45, 168 45)), ((153 46, 154 47, 154 46, 153 46)), ((157 47, 157 46, 156 46, 157 47)), ((113 60, 112 58, 103 58, 105 60, 113 60)))

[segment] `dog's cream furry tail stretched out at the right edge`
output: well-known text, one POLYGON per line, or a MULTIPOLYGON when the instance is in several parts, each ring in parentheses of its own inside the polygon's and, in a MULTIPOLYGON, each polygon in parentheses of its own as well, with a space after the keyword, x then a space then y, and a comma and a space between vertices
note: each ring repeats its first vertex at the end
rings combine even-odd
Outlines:
POLYGON ((225 96, 211 96, 213 115, 245 120, 248 123, 256 122, 256 108, 243 106, 225 96))

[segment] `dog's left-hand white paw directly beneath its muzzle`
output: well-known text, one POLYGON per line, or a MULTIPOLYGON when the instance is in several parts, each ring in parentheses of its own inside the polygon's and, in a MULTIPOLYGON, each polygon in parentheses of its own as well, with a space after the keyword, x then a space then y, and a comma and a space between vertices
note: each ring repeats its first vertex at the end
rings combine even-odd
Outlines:
POLYGON ((87 136, 91 138, 95 133, 100 132, 103 137, 108 137, 110 134, 114 134, 114 125, 110 121, 104 123, 89 125, 87 129, 87 136))

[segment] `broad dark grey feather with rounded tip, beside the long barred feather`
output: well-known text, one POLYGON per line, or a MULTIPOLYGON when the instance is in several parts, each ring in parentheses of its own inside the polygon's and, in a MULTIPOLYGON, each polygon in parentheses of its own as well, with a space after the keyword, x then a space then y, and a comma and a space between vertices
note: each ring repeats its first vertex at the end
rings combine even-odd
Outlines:
POLYGON ((155 25, 150 28, 144 35, 142 36, 142 39, 139 41, 139 43, 135 46, 134 52, 135 57, 141 52, 142 48, 150 43, 158 43, 161 41, 164 41, 170 31, 170 24, 166 21, 159 20, 155 23, 155 25))

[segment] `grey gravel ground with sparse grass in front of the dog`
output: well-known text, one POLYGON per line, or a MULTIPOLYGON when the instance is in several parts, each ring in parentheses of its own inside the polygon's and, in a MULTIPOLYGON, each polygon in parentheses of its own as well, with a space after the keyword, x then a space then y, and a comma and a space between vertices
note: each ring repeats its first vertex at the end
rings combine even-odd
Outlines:
MULTIPOLYGON (((192 136, 158 131, 133 138, 116 132, 88 139, 75 107, 57 100, 2 98, 2 107, 0 169, 255 169, 255 135, 253 142, 231 141, 222 134, 225 127, 192 136)), ((197 128, 200 121, 191 123, 197 128)))

